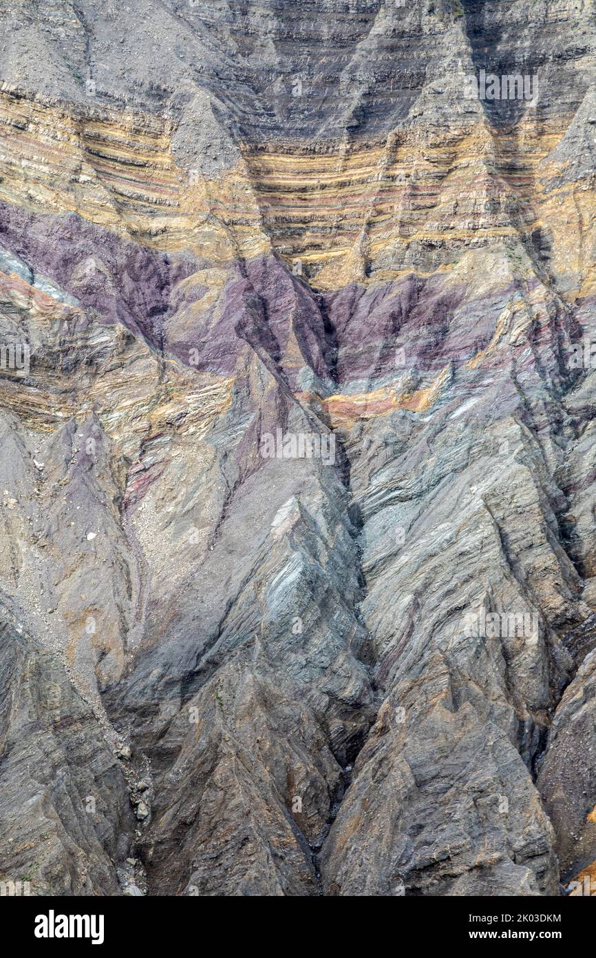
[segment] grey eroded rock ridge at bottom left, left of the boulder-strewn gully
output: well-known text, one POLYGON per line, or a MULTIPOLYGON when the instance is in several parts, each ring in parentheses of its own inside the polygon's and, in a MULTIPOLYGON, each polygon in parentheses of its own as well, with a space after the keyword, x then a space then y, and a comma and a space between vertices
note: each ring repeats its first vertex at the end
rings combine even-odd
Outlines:
POLYGON ((28 881, 36 895, 118 895, 114 860, 132 816, 98 720, 57 656, 22 630, 2 628, 1 656, 0 881, 28 881))

